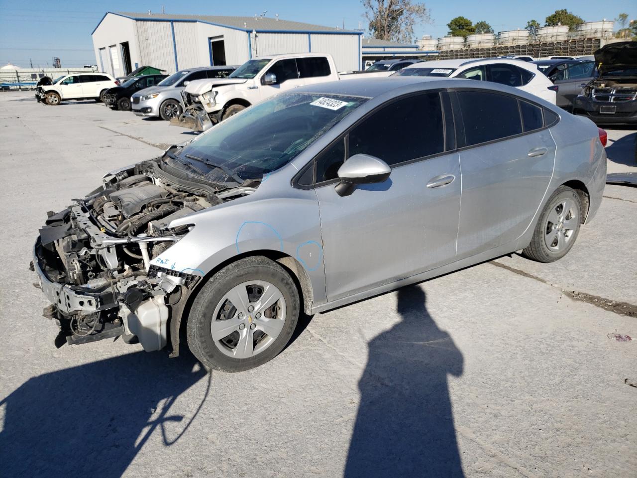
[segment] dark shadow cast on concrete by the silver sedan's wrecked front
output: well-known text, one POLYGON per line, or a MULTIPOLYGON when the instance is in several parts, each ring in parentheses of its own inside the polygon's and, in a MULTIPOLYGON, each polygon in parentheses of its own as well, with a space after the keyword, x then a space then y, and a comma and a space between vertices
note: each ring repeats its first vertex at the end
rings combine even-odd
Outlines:
POLYGON ((3 475, 120 477, 157 428, 167 446, 185 433, 211 376, 192 419, 171 406, 205 375, 190 354, 136 352, 29 379, 0 402, 3 475))

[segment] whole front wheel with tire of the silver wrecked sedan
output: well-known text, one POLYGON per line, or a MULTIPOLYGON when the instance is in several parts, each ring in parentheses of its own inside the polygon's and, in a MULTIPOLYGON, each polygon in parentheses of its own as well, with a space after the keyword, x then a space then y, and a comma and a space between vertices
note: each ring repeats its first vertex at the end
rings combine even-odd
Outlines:
POLYGON ((243 372, 263 365, 289 342, 299 310, 299 291, 279 264, 261 256, 240 259, 197 293, 186 327, 190 351, 209 370, 243 372), (269 294, 273 305, 260 308, 269 294))

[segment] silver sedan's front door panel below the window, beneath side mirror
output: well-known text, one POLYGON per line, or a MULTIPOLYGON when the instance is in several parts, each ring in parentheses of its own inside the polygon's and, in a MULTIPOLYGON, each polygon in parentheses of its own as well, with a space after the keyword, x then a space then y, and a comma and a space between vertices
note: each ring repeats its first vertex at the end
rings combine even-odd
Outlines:
POLYGON ((392 170, 382 184, 341 197, 317 187, 330 301, 404 279, 454 260, 460 210, 459 154, 392 170), (433 178, 453 175, 441 187, 433 178))

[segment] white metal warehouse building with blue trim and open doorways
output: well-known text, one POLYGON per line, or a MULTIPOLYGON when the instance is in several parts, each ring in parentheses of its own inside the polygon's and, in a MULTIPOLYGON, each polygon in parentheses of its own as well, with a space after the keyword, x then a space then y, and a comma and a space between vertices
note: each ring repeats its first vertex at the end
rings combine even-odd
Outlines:
POLYGON ((361 69, 361 35, 266 17, 108 12, 92 33, 97 66, 125 76, 142 65, 174 72, 240 65, 255 56, 329 53, 339 71, 361 69))

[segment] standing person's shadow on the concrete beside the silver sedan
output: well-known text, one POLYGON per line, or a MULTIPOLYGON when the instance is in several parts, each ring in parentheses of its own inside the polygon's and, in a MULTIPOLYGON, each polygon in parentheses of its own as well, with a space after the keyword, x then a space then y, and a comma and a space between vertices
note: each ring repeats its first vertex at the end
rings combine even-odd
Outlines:
POLYGON ((398 291, 402 321, 369 342, 345 477, 462 477, 447 374, 462 354, 419 286, 398 291))

